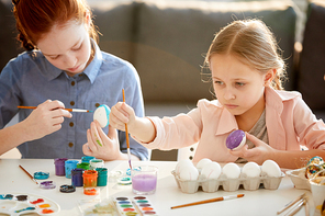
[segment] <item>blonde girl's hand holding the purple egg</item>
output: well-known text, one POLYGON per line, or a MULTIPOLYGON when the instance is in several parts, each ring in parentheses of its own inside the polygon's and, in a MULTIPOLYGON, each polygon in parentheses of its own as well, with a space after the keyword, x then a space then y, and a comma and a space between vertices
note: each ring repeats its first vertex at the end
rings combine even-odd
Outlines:
POLYGON ((248 149, 248 146, 245 145, 240 150, 229 150, 231 155, 244 158, 248 161, 254 161, 258 164, 262 164, 264 161, 272 158, 272 155, 274 154, 274 149, 272 147, 248 133, 245 134, 246 138, 249 139, 255 147, 248 149))

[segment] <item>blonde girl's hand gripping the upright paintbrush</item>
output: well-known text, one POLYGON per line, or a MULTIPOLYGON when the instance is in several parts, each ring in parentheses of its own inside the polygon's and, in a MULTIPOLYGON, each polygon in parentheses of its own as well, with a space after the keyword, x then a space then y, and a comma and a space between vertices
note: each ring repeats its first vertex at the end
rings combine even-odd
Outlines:
POLYGON ((116 129, 125 132, 125 124, 131 132, 133 125, 135 125, 134 110, 124 102, 117 102, 110 113, 110 125, 116 129))

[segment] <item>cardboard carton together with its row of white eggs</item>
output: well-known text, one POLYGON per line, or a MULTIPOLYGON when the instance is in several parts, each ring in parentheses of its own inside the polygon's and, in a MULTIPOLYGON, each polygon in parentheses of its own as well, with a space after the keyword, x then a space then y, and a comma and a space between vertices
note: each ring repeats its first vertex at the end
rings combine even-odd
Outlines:
POLYGON ((234 162, 228 162, 221 168, 217 162, 211 161, 200 170, 198 164, 195 168, 192 162, 179 162, 176 170, 171 172, 182 192, 195 193, 199 186, 209 193, 216 192, 220 186, 224 191, 232 192, 237 191, 240 184, 245 190, 253 191, 259 189, 261 183, 265 189, 276 190, 284 177, 279 166, 272 160, 265 161, 261 167, 255 162, 248 162, 243 169, 234 162))

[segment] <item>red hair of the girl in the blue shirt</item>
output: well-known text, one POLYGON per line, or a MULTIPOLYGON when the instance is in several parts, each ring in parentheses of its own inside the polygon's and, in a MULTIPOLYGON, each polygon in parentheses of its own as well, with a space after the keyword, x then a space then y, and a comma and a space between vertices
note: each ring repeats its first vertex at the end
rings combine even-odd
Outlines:
MULTIPOLYGON (((86 23, 87 13, 90 19, 92 18, 86 0, 13 0, 12 2, 19 31, 18 39, 27 50, 35 49, 37 41, 55 24, 64 26, 70 20, 80 24, 86 23)), ((89 35, 98 41, 98 32, 91 21, 89 35)))

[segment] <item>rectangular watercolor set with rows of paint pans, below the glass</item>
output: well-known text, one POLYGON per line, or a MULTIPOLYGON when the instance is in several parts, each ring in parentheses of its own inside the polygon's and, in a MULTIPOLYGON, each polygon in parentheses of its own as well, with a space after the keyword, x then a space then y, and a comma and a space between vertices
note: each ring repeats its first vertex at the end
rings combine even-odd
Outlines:
POLYGON ((146 196, 115 197, 115 205, 120 215, 155 216, 158 215, 152 202, 146 196))

